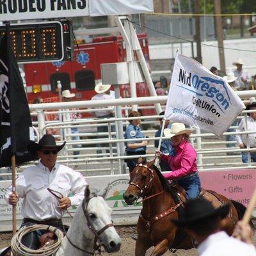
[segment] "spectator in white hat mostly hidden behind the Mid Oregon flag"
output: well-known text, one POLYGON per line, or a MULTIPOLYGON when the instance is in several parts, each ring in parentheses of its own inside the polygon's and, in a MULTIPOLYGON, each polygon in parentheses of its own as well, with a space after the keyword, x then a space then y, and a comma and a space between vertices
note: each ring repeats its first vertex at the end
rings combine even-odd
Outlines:
MULTIPOLYGON (((223 79, 230 85, 230 87, 234 90, 237 91, 236 86, 235 86, 235 81, 237 77, 234 76, 233 72, 228 73, 227 76, 224 76, 223 79)), ((234 120, 231 126, 237 126, 239 124, 239 119, 234 120)), ((227 132, 235 132, 236 128, 229 128, 227 132)), ((226 141, 236 141, 236 135, 226 135, 225 136, 226 141)), ((227 143, 226 147, 232 148, 236 147, 236 143, 227 143)), ((227 152, 227 155, 234 155, 234 152, 227 152)))

